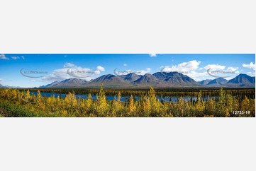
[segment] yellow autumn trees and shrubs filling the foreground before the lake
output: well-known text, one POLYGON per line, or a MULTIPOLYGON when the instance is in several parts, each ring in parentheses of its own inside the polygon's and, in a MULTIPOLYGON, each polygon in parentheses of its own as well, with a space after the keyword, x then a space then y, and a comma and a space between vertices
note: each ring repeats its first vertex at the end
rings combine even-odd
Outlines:
POLYGON ((255 99, 252 99, 252 93, 249 93, 245 92, 245 95, 250 95, 248 96, 250 99, 245 96, 242 101, 235 99, 239 97, 239 92, 229 94, 221 89, 216 101, 210 99, 204 102, 201 100, 200 92, 196 102, 185 102, 181 97, 178 102, 160 102, 157 100, 156 91, 150 88, 148 93, 140 96, 138 101, 130 95, 129 102, 126 104, 121 102, 120 92, 113 102, 106 100, 103 86, 96 95, 96 101, 92 100, 91 94, 87 100, 77 100, 74 93, 68 93, 65 98, 59 96, 45 98, 39 90, 35 96, 30 95, 30 90, 21 92, 0 88, 0 105, 3 101, 23 105, 39 117, 255 117, 255 99), (234 110, 246 112, 246 115, 233 115, 234 110))

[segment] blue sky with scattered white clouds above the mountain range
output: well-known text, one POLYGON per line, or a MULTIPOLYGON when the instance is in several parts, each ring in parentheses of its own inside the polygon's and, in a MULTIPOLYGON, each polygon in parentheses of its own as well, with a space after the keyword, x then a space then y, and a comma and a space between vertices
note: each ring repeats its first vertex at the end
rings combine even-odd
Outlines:
POLYGON ((4 86, 38 87, 74 78, 68 69, 80 71, 76 78, 87 81, 114 74, 114 69, 140 74, 178 71, 196 81, 214 79, 207 74, 211 69, 232 71, 221 75, 230 79, 239 73, 255 76, 255 54, 0 54, 0 84, 4 86))

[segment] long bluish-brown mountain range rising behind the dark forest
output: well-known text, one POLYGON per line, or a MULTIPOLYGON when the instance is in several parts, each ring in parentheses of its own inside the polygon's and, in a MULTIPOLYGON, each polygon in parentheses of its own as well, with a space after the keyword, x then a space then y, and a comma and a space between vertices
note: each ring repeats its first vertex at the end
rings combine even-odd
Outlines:
POLYGON ((230 88, 255 88, 255 77, 240 74, 230 81, 224 78, 196 82, 194 79, 178 72, 157 72, 137 75, 115 76, 106 74, 91 81, 79 78, 69 78, 64 81, 55 81, 39 88, 99 88, 103 83, 104 88, 172 88, 172 87, 230 87, 230 88))

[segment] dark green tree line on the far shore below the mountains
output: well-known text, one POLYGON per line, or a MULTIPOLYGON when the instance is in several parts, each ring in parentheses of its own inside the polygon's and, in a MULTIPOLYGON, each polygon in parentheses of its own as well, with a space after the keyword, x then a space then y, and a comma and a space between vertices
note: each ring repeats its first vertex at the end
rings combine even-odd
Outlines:
MULTIPOLYGON (((27 89, 18 89, 21 91, 27 89)), ((40 91, 44 93, 59 93, 59 94, 68 94, 69 92, 77 94, 77 95, 96 95, 99 93, 99 89, 88 89, 88 88, 32 88, 30 91, 40 91)), ((104 89, 106 95, 117 95, 119 92, 123 96, 145 96, 147 95, 148 89, 104 89)), ((199 93, 201 93, 202 98, 210 96, 217 96, 219 94, 220 88, 154 88, 157 97, 161 96, 169 96, 169 97, 197 97, 199 93)), ((236 98, 240 98, 243 100, 245 95, 247 98, 255 98, 255 88, 224 88, 223 90, 226 93, 235 96, 236 98)))

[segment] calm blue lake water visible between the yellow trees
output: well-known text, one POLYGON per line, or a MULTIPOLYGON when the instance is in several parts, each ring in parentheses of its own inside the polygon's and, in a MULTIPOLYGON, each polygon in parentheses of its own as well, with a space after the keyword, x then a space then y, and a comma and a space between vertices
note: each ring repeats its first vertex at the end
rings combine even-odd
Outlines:
MULTIPOLYGON (((38 92, 30 92, 30 95, 38 95, 38 92)), ((58 96, 60 96, 60 98, 65 98, 67 94, 62 94, 62 93, 45 93, 45 92, 41 92, 42 96, 45 96, 47 98, 49 97, 55 97, 57 98, 58 96)), ((88 99, 88 95, 76 95, 77 98, 81 98, 81 99, 88 99)), ((92 100, 96 100, 96 95, 91 95, 92 100)), ((114 100, 115 96, 113 95, 106 95, 107 100, 114 100)), ((117 99, 117 97, 116 97, 117 99)), ((121 96, 121 102, 126 102, 128 101, 128 97, 126 96, 121 96)), ((162 101, 172 101, 172 102, 177 102, 177 100, 179 99, 179 97, 157 97, 158 100, 160 100, 160 102, 162 101)), ((140 100, 139 97, 135 97, 135 100, 140 100)), ((197 98, 196 97, 187 97, 187 98, 183 98, 184 101, 188 102, 189 100, 194 100, 196 101, 197 98)), ((203 98, 201 98, 201 100, 203 100, 203 98)), ((204 98, 204 101, 208 100, 208 98, 204 98)))

